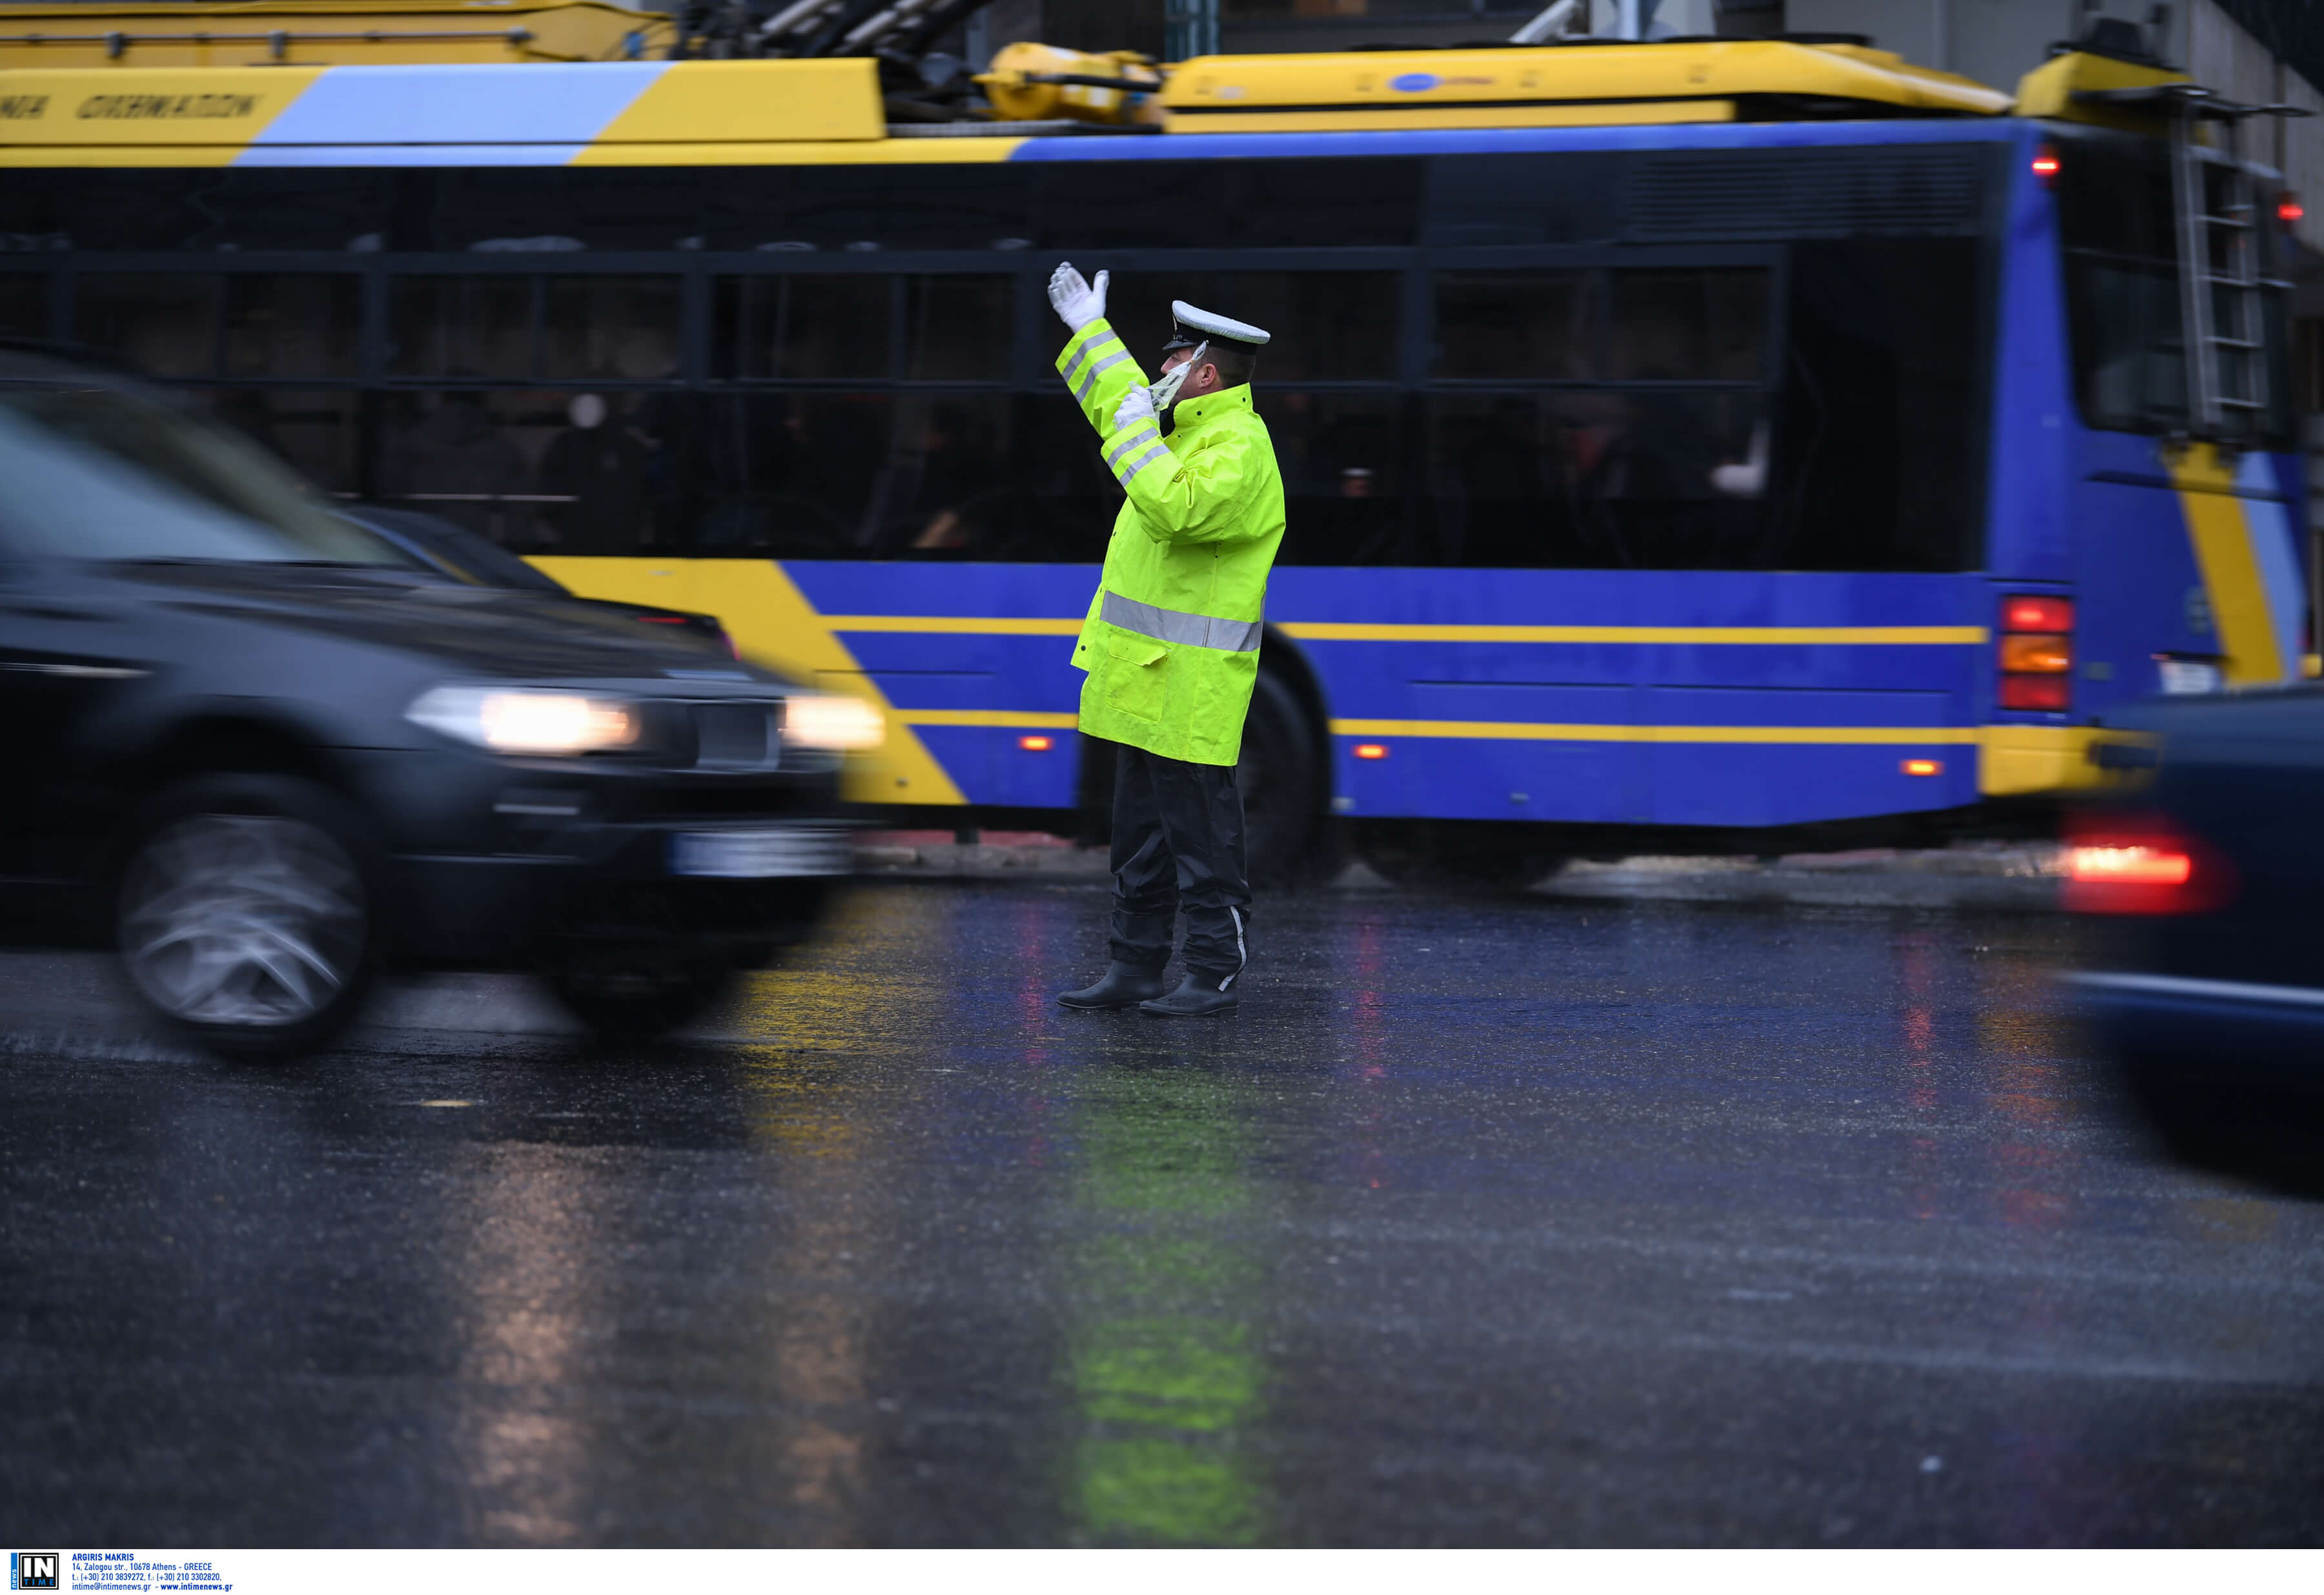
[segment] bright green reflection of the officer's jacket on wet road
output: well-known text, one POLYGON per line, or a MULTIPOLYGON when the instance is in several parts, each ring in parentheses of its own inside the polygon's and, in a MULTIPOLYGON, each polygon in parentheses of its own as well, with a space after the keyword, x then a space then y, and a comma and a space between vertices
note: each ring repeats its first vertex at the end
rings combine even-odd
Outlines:
POLYGON ((1246 1211, 1246 1090, 1190 1070, 1109 1070, 1078 1093, 1071 1509, 1102 1544, 1255 1544, 1267 1481, 1241 1449, 1267 1367, 1264 1267, 1246 1211))

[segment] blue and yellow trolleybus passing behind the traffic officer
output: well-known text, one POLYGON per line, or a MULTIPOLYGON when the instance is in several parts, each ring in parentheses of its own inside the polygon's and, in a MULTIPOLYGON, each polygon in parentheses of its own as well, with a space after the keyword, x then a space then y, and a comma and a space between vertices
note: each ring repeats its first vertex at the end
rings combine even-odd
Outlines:
POLYGON ((920 823, 1071 828, 1106 763, 1060 258, 1146 356, 1171 298, 1274 332, 1276 863, 1941 835, 2301 667, 2273 174, 2154 63, 1202 58, 1143 121, 925 128, 869 60, 21 60, 5 330, 723 616, 885 709, 855 795, 920 823))

